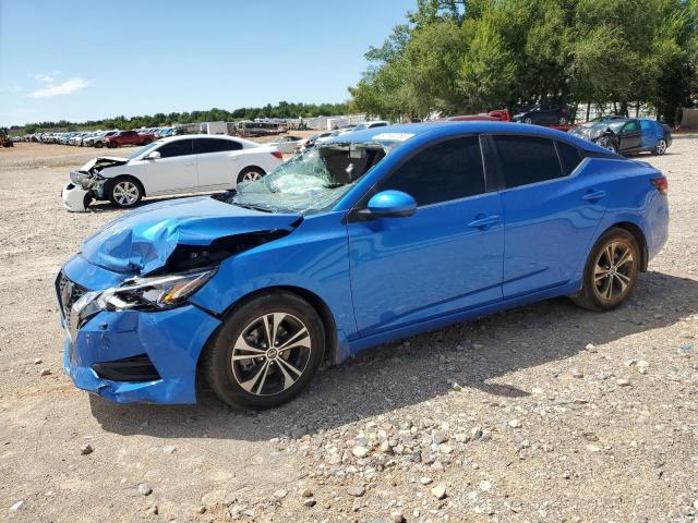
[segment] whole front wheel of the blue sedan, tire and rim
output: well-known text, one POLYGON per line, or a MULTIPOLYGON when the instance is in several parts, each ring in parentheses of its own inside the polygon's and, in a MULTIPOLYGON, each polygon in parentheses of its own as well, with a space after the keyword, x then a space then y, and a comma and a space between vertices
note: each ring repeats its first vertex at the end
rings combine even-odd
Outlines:
POLYGON ((203 369, 226 403, 267 409, 305 389, 324 352, 317 312, 296 294, 274 291, 229 313, 203 355, 203 369))

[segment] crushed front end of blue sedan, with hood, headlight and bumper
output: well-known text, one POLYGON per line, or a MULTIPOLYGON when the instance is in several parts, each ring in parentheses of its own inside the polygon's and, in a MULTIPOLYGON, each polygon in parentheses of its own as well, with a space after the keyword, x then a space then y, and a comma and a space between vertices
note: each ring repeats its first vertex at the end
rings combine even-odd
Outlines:
POLYGON ((75 386, 119 403, 195 403, 197 362, 220 325, 196 293, 221 260, 299 220, 202 196, 144 206, 89 236, 56 280, 75 386))

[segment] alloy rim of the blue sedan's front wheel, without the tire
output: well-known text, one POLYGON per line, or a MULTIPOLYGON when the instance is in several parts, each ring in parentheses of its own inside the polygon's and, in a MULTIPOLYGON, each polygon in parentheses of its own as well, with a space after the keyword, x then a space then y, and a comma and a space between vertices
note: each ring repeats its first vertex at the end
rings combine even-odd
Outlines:
POLYGON ((305 372, 312 344, 305 324, 286 313, 265 314, 250 323, 236 340, 230 364, 244 390, 278 394, 305 372))

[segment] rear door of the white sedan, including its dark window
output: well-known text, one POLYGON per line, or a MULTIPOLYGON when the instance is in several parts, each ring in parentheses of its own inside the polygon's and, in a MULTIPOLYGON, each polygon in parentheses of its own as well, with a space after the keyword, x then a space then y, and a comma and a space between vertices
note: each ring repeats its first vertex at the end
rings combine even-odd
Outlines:
POLYGON ((194 138, 194 154, 202 188, 232 188, 242 163, 242 144, 225 138, 194 138))

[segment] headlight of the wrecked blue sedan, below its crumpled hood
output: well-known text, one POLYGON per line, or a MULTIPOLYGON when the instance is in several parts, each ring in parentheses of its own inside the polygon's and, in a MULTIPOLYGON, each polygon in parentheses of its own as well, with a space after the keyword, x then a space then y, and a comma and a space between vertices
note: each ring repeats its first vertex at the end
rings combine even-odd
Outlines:
POLYGON ((209 269, 153 278, 133 278, 127 280, 121 287, 104 291, 97 297, 97 305, 103 311, 177 307, 201 289, 215 273, 216 269, 209 269))

